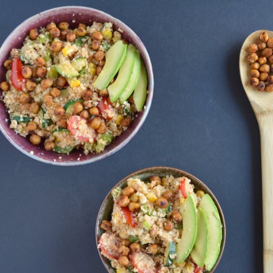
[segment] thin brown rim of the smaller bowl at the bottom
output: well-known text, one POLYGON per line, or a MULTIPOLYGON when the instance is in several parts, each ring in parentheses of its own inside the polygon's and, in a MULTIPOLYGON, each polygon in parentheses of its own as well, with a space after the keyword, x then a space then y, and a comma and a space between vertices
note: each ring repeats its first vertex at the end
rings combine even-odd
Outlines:
POLYGON ((121 179, 116 185, 114 185, 114 187, 112 187, 112 189, 109 191, 109 193, 106 195, 106 197, 104 198, 100 208, 99 208, 99 211, 98 211, 98 215, 97 215, 97 219, 96 219, 96 225, 95 225, 95 237, 96 237, 96 246, 97 246, 97 250, 98 250, 98 253, 99 253, 99 257, 104 265, 104 267, 106 268, 106 270, 111 273, 106 265, 106 263, 104 262, 103 258, 102 258, 102 255, 98 249, 98 230, 99 230, 99 220, 100 220, 100 215, 101 215, 101 210, 103 208, 103 206, 105 205, 106 201, 108 200, 109 196, 111 195, 111 192, 112 190, 114 190, 115 188, 117 188, 118 186, 120 186, 120 184, 122 184, 123 182, 125 182, 127 179, 133 177, 133 176, 136 176, 138 174, 143 174, 143 173, 146 173, 146 172, 155 172, 155 171, 170 171, 170 172, 180 172, 180 173, 183 173, 183 175, 189 177, 191 180, 195 180, 197 181, 198 183, 200 183, 204 188, 205 190, 207 191, 207 193, 210 195, 210 197, 212 197, 213 201, 216 202, 216 207, 218 209, 218 212, 219 212, 219 215, 220 215, 220 218, 221 218, 221 222, 222 222, 222 242, 221 242, 221 248, 220 248, 220 252, 219 252, 219 256, 217 258, 217 261, 216 263, 214 264, 212 270, 209 272, 209 273, 213 273, 221 258, 222 258, 222 255, 223 255, 223 252, 224 252, 224 248, 225 248, 225 241, 226 241, 226 224, 225 224, 225 218, 224 218, 224 214, 223 214, 223 210, 218 202, 218 200, 216 199, 216 197, 214 196, 214 194, 211 192, 211 190, 205 185, 204 182, 202 182, 200 179, 198 179, 196 176, 184 171, 184 170, 181 170, 181 169, 178 169, 178 168, 173 168, 173 167, 163 167, 163 166, 160 166, 160 167, 147 167, 147 168, 143 168, 143 169, 140 169, 140 170, 137 170, 129 175, 127 175, 126 177, 124 177, 123 179, 121 179))

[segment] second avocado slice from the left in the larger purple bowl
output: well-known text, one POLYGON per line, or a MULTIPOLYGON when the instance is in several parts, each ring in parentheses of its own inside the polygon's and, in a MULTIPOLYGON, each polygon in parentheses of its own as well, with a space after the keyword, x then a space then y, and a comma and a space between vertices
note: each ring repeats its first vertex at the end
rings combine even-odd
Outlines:
POLYGON ((135 52, 136 48, 130 44, 116 80, 107 87, 111 102, 117 101, 130 80, 134 68, 135 52))

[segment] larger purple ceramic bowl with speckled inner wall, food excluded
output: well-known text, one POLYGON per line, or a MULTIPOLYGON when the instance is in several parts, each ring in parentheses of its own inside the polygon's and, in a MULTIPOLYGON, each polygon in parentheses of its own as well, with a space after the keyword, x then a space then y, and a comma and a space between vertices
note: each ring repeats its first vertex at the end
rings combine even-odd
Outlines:
POLYGON ((49 22, 52 21, 56 23, 67 21, 72 27, 76 27, 79 23, 90 25, 90 23, 93 21, 112 22, 115 30, 117 30, 119 27, 122 28, 124 30, 124 38, 127 39, 130 43, 134 44, 140 51, 141 57, 146 66, 148 75, 148 95, 144 110, 140 113, 137 113, 135 120, 128 128, 128 130, 126 130, 121 136, 118 136, 111 144, 106 146, 105 150, 100 154, 85 155, 82 149, 72 151, 69 155, 59 154, 52 151, 46 151, 43 145, 35 146, 31 144, 28 138, 16 135, 14 131, 9 128, 9 122, 6 122, 6 119, 9 117, 6 112, 6 108, 1 101, 0 130, 12 145, 33 159, 62 166, 82 165, 95 162, 113 154, 125 146, 136 135, 137 131, 140 129, 144 120, 146 119, 153 96, 153 71, 151 61, 147 50, 139 37, 122 21, 94 8, 84 6, 63 6, 38 13, 25 20, 11 32, 11 34, 6 38, 0 48, 0 81, 5 80, 6 71, 2 64, 9 57, 10 50, 12 48, 20 48, 22 46, 22 42, 28 35, 30 29, 46 26, 49 22))

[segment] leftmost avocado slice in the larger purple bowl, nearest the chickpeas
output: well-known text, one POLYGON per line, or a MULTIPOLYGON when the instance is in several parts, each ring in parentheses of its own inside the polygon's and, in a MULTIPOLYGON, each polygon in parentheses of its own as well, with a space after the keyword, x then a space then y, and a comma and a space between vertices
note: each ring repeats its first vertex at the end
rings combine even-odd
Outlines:
POLYGON ((110 80, 119 71, 127 51, 127 45, 122 41, 115 43, 105 54, 105 65, 99 73, 93 86, 99 90, 107 87, 110 80))

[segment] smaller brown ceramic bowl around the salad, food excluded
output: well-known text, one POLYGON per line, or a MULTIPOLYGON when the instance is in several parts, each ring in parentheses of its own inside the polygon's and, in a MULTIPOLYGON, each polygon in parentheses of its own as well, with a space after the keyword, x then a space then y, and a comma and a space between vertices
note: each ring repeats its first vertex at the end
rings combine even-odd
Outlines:
MULTIPOLYGON (((186 176, 189 179, 191 179, 191 182, 195 186, 195 190, 204 191, 214 201, 215 205, 218 208, 219 215, 220 215, 221 222, 222 222, 222 226, 223 226, 223 228, 222 228, 222 243, 221 243, 220 254, 219 254, 219 257, 218 257, 214 267, 210 271, 210 273, 214 272, 217 265, 219 264, 219 261, 220 261, 221 257, 222 257, 222 254, 223 254, 223 251, 224 251, 224 246, 225 246, 226 226, 225 226, 225 219, 224 219, 222 209, 221 209, 217 199, 215 198, 215 196, 205 186, 205 184, 203 182, 201 182, 195 176, 193 176, 193 175, 191 175, 191 174, 189 174, 189 173, 187 173, 185 171, 175 169, 175 168, 151 167, 151 168, 142 169, 142 170, 139 170, 139 171, 137 171, 135 173, 132 173, 132 174, 128 175, 127 177, 123 178, 119 183, 117 183, 111 189, 111 191, 108 193, 108 195, 104 199, 104 201, 103 201, 103 203, 102 203, 102 205, 101 205, 101 207, 99 209, 98 216, 97 216, 97 222, 96 222, 96 243, 97 243, 97 247, 98 247, 98 240, 99 240, 101 234, 103 233, 103 230, 100 229, 101 221, 102 220, 111 220, 111 214, 112 214, 113 204, 114 204, 113 198, 112 198, 112 195, 111 195, 112 190, 117 188, 117 187, 125 188, 127 186, 126 181, 129 178, 139 178, 139 179, 141 179, 143 181, 146 181, 146 180, 148 180, 149 177, 151 177, 153 175, 157 175, 159 177, 164 177, 166 175, 173 175, 174 177, 186 176)), ((111 264, 110 264, 109 260, 107 258, 105 258, 104 256, 102 256, 100 251, 99 251, 99 255, 100 255, 101 261, 102 261, 103 265, 105 266, 105 268, 107 269, 107 271, 109 273, 115 273, 116 271, 111 267, 111 264)))

